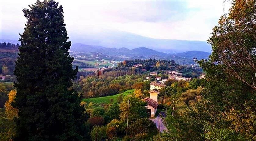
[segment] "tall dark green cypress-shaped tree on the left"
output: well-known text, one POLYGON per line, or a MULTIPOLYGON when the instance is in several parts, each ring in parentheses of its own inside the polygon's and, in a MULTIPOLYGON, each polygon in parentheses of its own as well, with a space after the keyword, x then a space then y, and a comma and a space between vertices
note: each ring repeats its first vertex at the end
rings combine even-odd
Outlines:
POLYGON ((81 97, 70 89, 78 69, 72 69, 62 6, 45 0, 29 7, 23 9, 27 22, 14 71, 13 106, 19 110, 15 140, 86 140, 81 97))

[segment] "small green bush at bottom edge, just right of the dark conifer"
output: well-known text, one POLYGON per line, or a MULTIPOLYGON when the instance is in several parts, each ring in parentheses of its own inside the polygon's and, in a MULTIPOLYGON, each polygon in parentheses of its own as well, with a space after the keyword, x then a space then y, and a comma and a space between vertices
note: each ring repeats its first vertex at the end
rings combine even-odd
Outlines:
POLYGON ((97 135, 97 140, 106 139, 106 126, 94 126, 90 132, 91 139, 95 140, 97 135))

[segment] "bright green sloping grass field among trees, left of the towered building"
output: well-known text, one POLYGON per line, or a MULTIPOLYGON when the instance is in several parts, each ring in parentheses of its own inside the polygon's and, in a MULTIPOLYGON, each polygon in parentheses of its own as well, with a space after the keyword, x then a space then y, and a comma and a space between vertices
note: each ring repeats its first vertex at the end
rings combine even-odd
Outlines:
POLYGON ((82 101, 85 101, 86 103, 94 103, 94 104, 108 104, 110 103, 110 99, 113 99, 113 102, 117 102, 117 97, 123 94, 123 96, 130 96, 132 95, 134 89, 127 90, 124 93, 120 93, 113 96, 105 96, 105 97, 96 97, 96 98, 88 98, 88 99, 82 99, 82 101))

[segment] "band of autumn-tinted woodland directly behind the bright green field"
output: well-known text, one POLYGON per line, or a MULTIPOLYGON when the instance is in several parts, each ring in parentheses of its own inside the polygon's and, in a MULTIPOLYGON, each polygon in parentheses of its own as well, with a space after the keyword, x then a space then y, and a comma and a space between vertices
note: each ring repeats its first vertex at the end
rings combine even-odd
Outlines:
MULTIPOLYGON (((125 76, 89 76, 80 77, 74 82, 73 88, 84 98, 110 96, 117 93, 122 93, 136 82, 143 82, 146 75, 125 75, 125 76)), ((150 82, 143 82, 149 88, 150 82)))

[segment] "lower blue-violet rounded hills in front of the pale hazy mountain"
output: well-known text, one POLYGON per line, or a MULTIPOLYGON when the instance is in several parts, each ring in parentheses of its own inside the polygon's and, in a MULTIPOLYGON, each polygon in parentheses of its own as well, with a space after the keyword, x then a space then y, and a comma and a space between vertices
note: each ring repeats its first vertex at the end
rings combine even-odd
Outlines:
POLYGON ((91 52, 99 52, 101 54, 105 54, 108 56, 120 57, 124 59, 172 59, 180 64, 193 64, 193 58, 203 59, 208 58, 210 55, 209 52, 203 51, 188 51, 182 53, 164 53, 158 52, 153 49, 149 49, 146 47, 139 47, 135 49, 127 49, 127 48, 107 48, 103 46, 95 46, 95 45, 85 45, 81 43, 72 44, 70 51, 73 52, 83 52, 83 53, 91 53, 91 52))

